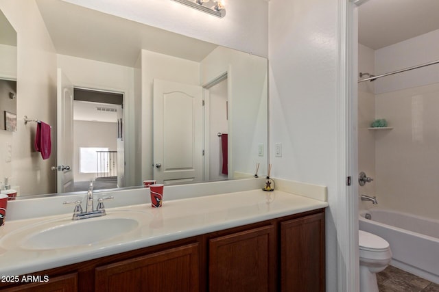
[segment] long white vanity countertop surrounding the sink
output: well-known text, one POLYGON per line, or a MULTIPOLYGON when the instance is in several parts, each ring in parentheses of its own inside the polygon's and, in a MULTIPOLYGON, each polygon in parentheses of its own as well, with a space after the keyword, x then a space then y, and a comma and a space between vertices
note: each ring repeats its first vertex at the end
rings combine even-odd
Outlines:
MULTIPOLYGON (((107 209, 107 215, 85 220, 103 220, 117 214, 134 214, 139 226, 124 235, 91 245, 54 250, 28 250, 14 246, 8 237, 21 228, 42 224, 49 220, 72 224, 71 214, 52 215, 24 220, 6 221, 0 228, 1 276, 16 276, 60 267, 93 258, 118 254, 138 248, 156 245, 211 233, 235 226, 270 220, 276 217, 302 213, 328 207, 322 200, 289 194, 284 191, 254 189, 235 193, 163 201, 163 207, 150 204, 107 209), (127 212, 132 211, 132 212, 127 212)), ((84 222, 78 220, 76 222, 84 222)), ((112 226, 108 226, 108 233, 112 226)), ((81 236, 78 234, 78 236, 81 236)))

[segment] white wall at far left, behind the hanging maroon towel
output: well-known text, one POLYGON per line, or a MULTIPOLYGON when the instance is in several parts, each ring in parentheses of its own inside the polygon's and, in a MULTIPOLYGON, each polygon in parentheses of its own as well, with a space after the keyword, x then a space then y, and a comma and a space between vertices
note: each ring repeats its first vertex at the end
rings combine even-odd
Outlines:
POLYGON ((23 116, 52 125, 56 141, 56 53, 36 3, 0 0, 0 9, 17 32, 17 131, 0 131, 0 179, 12 177, 11 185, 23 194, 56 191, 56 148, 43 160, 33 147, 36 124, 24 124, 23 116), (5 162, 12 146, 12 161, 5 162))

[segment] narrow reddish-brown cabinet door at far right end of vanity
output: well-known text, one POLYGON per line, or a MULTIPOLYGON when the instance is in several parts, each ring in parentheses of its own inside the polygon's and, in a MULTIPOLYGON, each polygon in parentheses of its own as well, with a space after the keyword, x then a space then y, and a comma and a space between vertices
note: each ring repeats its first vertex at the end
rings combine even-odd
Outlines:
POLYGON ((281 222, 281 291, 324 291, 324 213, 281 222))

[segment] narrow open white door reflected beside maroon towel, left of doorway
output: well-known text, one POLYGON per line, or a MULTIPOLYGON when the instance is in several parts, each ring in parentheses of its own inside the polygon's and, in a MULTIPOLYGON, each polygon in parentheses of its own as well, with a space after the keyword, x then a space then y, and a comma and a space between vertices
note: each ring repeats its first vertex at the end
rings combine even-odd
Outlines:
POLYGON ((57 80, 58 193, 73 191, 73 84, 58 68, 57 80))

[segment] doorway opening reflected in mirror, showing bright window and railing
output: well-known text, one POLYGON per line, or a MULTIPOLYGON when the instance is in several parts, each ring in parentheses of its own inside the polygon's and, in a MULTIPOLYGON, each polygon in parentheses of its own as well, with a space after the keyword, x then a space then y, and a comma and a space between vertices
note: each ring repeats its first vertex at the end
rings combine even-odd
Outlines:
POLYGON ((74 88, 74 190, 123 187, 123 94, 74 88))

